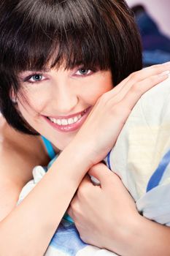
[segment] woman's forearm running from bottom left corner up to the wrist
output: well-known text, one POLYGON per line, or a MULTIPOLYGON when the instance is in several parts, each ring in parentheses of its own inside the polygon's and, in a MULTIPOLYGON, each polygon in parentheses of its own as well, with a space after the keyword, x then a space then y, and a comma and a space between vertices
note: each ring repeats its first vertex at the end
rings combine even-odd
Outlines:
POLYGON ((64 150, 42 181, 1 222, 0 255, 11 255, 10 244, 14 256, 42 256, 87 170, 78 153, 64 150))

